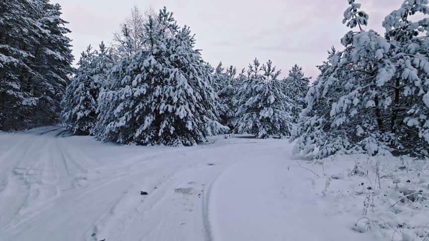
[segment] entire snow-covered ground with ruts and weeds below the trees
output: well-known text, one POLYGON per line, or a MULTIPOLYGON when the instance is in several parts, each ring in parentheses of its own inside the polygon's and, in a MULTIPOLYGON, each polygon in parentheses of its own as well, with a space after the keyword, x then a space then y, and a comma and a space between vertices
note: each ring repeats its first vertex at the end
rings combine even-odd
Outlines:
POLYGON ((428 165, 307 162, 243 136, 171 148, 0 133, 0 240, 429 241, 428 165))

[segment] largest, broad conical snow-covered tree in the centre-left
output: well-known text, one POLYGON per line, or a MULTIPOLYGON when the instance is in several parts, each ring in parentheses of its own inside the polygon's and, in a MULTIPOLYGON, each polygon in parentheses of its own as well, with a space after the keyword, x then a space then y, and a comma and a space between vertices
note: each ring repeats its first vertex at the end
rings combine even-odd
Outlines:
POLYGON ((133 145, 185 145, 221 129, 210 68, 194 50, 188 27, 166 8, 150 18, 141 49, 120 61, 100 93, 99 140, 133 145), (157 23, 156 23, 157 22, 157 23))

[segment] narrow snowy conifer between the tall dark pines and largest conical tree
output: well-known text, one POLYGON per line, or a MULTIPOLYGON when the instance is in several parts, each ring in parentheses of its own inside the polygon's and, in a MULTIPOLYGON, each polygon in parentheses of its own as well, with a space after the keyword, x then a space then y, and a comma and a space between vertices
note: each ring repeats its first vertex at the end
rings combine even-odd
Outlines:
POLYGON ((98 95, 113 60, 110 50, 101 42, 99 51, 92 51, 89 46, 78 65, 62 101, 62 116, 68 130, 78 135, 90 135, 97 122, 98 95))

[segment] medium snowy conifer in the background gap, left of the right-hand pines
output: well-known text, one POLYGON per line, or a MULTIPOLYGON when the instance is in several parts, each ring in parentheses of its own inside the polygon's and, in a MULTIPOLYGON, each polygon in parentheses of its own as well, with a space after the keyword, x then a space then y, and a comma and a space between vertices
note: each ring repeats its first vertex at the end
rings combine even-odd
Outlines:
POLYGON ((249 65, 247 80, 238 91, 237 133, 253 134, 258 139, 290 135, 292 100, 284 94, 279 75, 271 61, 261 66, 255 59, 249 65))

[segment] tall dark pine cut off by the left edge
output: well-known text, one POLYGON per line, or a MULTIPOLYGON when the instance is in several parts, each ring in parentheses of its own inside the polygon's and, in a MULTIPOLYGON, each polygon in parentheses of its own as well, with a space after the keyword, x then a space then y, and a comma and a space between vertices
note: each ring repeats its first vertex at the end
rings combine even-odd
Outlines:
POLYGON ((30 51, 37 44, 31 11, 28 1, 0 2, 0 130, 19 129, 37 101, 21 88, 22 77, 33 74, 30 51))

